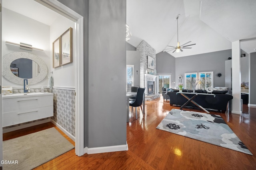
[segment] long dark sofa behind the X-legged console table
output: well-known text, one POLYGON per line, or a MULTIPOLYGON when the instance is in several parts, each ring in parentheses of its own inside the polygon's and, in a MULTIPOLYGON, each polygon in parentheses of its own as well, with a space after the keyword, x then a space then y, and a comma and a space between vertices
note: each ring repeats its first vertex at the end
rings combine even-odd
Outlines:
MULTIPOLYGON (((188 101, 181 94, 176 94, 177 92, 179 92, 179 90, 176 89, 171 89, 170 91, 166 92, 166 95, 169 96, 171 106, 173 104, 182 106, 188 101)), ((192 90, 183 89, 182 92, 192 92, 192 90)), ((195 92, 207 93, 206 90, 196 90, 195 92)), ((230 100, 233 99, 233 96, 228 94, 227 91, 219 90, 214 90, 212 94, 215 94, 215 98, 214 96, 210 95, 198 95, 196 98, 194 98, 194 101, 205 109, 214 109, 225 113, 227 109, 227 104, 230 100)), ((186 96, 191 98, 192 96, 194 96, 194 94, 186 94, 186 96)), ((189 102, 187 106, 198 108, 192 102, 189 102)))

